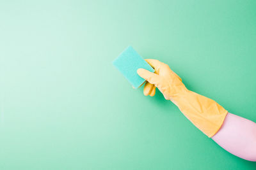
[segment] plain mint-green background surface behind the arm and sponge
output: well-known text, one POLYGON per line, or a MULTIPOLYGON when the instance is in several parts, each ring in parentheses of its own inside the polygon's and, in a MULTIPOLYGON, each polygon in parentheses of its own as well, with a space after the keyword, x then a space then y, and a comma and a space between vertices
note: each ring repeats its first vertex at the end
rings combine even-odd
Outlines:
POLYGON ((111 62, 132 45, 256 122, 255 1, 1 1, 0 169, 255 169, 111 62))

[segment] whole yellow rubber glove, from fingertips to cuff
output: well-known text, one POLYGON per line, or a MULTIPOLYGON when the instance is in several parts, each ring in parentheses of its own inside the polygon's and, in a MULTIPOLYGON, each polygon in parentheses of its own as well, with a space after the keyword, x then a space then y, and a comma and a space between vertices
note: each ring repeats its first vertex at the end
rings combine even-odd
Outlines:
POLYGON ((154 96, 157 87, 164 98, 176 104, 200 131, 209 138, 214 136, 223 124, 228 111, 212 99, 188 90, 180 77, 167 64, 154 59, 146 59, 146 61, 154 67, 155 73, 146 69, 137 71, 147 80, 144 87, 145 96, 154 96))

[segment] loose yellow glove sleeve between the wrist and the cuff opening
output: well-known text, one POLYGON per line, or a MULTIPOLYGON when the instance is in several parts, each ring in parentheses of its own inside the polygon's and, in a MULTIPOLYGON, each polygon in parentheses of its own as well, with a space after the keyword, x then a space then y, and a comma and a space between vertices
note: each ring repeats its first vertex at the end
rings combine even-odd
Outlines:
POLYGON ((219 131, 227 115, 220 104, 188 89, 173 96, 171 101, 200 131, 210 138, 219 131))

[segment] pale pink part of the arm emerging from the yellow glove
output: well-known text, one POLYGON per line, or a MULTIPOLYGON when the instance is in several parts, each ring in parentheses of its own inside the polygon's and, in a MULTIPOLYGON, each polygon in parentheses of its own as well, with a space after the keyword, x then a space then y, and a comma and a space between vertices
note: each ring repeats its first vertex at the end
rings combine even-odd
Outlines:
POLYGON ((221 129, 212 139, 228 152, 242 159, 256 161, 256 124, 228 113, 221 129))

